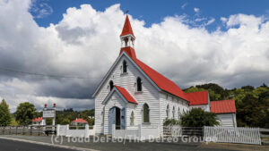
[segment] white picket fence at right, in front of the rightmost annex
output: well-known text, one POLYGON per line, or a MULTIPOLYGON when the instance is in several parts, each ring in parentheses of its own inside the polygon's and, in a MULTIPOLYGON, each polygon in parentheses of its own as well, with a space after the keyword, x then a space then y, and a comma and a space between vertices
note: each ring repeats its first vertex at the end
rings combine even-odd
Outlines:
POLYGON ((204 127, 204 140, 261 145, 259 128, 204 127))

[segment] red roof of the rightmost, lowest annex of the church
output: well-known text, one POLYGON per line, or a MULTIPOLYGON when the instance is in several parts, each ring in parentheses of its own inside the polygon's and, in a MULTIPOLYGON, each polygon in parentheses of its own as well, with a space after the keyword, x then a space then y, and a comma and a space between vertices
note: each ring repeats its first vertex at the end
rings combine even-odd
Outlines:
POLYGON ((231 100, 221 100, 221 101, 211 101, 211 112, 212 113, 236 113, 235 101, 231 100))

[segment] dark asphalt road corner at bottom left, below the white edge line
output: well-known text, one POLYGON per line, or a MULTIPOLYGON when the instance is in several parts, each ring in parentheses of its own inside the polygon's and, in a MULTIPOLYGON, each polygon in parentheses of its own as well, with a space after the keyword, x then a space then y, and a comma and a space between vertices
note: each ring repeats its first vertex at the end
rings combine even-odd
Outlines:
POLYGON ((0 151, 74 151, 60 147, 49 147, 0 138, 0 151))

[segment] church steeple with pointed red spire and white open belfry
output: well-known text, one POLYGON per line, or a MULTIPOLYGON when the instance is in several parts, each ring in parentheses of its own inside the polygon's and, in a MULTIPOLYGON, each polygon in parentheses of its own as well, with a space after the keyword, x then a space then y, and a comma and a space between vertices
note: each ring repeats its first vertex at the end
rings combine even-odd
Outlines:
POLYGON ((126 21, 124 28, 122 29, 122 32, 120 34, 120 40, 121 40, 121 47, 131 46, 134 48, 135 37, 131 23, 129 21, 128 14, 126 14, 126 21))

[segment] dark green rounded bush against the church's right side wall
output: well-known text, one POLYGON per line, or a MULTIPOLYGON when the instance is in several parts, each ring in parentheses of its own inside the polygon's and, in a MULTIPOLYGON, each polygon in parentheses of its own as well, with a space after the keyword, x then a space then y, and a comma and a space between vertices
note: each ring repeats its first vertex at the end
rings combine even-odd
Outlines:
POLYGON ((201 108, 192 108, 187 113, 180 115, 180 124, 185 127, 203 127, 219 125, 217 115, 201 108))

